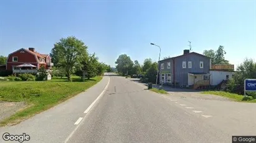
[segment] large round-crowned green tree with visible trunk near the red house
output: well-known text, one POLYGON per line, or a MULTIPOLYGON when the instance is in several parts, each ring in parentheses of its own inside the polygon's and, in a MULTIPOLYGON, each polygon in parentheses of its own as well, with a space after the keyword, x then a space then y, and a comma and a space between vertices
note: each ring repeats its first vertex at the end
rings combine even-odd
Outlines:
POLYGON ((50 55, 54 59, 54 64, 62 67, 68 80, 71 81, 71 74, 75 67, 80 68, 82 59, 88 56, 87 46, 82 40, 75 37, 61 38, 59 42, 54 44, 50 55))

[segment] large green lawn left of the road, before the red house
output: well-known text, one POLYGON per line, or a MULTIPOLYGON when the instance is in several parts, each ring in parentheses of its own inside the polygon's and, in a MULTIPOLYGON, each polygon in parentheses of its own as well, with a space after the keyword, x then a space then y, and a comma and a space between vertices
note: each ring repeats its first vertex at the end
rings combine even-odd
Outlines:
POLYGON ((20 123, 24 119, 36 115, 65 100, 84 92, 97 84, 102 77, 97 76, 85 82, 80 77, 72 76, 73 82, 67 82, 67 77, 53 77, 44 82, 0 82, 0 100, 6 102, 25 102, 27 108, 0 122, 0 126, 20 123))

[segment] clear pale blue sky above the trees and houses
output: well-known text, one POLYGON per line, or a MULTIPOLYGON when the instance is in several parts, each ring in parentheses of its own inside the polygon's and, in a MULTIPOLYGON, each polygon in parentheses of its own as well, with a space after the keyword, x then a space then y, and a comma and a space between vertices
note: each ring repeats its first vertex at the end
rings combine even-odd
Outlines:
POLYGON ((235 67, 256 60, 256 1, 1 0, 0 55, 34 47, 50 53, 60 38, 75 36, 101 62, 120 54, 143 63, 224 46, 235 67))

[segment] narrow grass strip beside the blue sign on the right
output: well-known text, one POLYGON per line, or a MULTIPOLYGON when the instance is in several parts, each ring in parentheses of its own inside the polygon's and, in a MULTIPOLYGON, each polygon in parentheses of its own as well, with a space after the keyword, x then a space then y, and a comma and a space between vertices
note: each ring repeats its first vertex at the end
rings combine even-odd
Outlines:
POLYGON ((235 102, 252 102, 256 103, 256 99, 252 98, 251 96, 244 97, 244 95, 238 95, 235 93, 229 93, 229 92, 223 92, 223 91, 207 91, 202 92, 203 94, 213 94, 213 95, 219 95, 221 97, 227 97, 235 102))

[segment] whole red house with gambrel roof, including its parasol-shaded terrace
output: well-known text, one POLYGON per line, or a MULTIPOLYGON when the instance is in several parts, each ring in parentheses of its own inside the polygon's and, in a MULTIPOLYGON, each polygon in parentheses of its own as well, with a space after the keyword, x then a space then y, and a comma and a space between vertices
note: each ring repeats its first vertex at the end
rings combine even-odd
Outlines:
POLYGON ((6 70, 13 73, 37 72, 40 66, 51 69, 53 63, 49 54, 37 53, 35 48, 21 48, 7 57, 6 70))

